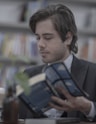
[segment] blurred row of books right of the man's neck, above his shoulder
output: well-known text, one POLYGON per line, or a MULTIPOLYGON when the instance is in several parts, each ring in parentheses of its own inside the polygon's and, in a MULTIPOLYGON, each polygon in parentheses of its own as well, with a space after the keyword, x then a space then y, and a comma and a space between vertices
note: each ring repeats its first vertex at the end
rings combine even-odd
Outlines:
POLYGON ((78 42, 79 52, 77 56, 90 62, 96 62, 96 38, 81 38, 78 42))

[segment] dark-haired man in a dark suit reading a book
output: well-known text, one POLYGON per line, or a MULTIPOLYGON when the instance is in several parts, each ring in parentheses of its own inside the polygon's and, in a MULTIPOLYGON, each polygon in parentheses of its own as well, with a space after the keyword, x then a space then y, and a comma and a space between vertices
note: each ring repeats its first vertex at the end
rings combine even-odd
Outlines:
MULTIPOLYGON (((67 112, 67 117, 95 120, 96 65, 77 59, 73 54, 77 53, 78 48, 77 27, 71 10, 60 4, 41 9, 30 18, 30 28, 36 35, 42 61, 46 64, 64 61, 78 86, 89 95, 89 99, 73 97, 68 91, 58 88, 66 100, 53 96, 52 100, 59 105, 50 103, 50 106, 58 111, 59 116, 65 116, 62 113, 67 112)), ((30 68, 26 72, 32 77, 41 73, 43 68, 44 65, 30 68)))

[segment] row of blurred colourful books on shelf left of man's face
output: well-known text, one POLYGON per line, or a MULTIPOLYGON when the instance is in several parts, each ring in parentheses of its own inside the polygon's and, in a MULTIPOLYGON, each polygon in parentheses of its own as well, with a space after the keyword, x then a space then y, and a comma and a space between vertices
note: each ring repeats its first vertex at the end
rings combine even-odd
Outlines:
POLYGON ((28 34, 0 33, 0 55, 38 58, 36 38, 28 34))

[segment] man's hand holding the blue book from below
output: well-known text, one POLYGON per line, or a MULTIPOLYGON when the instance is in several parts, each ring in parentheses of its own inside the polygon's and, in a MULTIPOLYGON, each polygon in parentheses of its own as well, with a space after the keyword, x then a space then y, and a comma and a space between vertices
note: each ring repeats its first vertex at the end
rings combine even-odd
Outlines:
POLYGON ((81 111, 83 113, 89 114, 91 109, 91 101, 83 96, 74 97, 69 94, 68 91, 59 87, 59 92, 66 97, 66 99, 61 99, 56 96, 52 96, 52 101, 57 103, 49 103, 51 107, 61 110, 61 111, 81 111))

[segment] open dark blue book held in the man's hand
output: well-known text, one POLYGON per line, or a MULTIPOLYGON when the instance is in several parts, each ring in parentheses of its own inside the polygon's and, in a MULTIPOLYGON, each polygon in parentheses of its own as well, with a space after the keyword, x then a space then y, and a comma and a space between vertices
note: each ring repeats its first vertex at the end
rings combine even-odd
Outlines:
POLYGON ((56 87, 63 87, 73 96, 86 96, 73 79, 72 75, 63 62, 54 63, 45 68, 44 73, 36 75, 29 79, 31 92, 25 95, 23 89, 17 86, 17 95, 34 113, 43 114, 50 106, 51 96, 62 97, 56 87))

